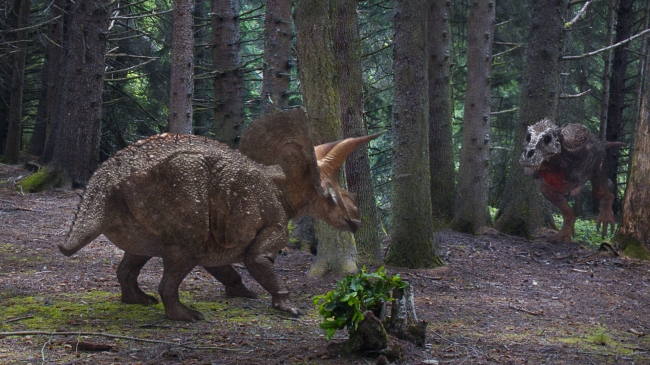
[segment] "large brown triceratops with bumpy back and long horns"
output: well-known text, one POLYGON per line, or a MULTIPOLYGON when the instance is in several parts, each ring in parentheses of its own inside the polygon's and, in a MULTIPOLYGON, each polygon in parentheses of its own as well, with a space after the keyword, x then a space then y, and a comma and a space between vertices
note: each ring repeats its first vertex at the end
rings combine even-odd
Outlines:
POLYGON ((336 172, 349 153, 376 136, 314 147, 300 108, 252 122, 240 151, 204 137, 149 137, 97 169, 59 249, 70 256, 103 233, 124 250, 117 268, 124 303, 157 302, 137 279, 151 257, 162 257, 158 292, 169 319, 203 318, 178 296, 195 266, 223 283, 226 295, 256 297, 231 266, 235 262, 271 293, 273 308, 299 315, 273 269, 288 243, 287 221, 312 215, 355 231, 360 214, 336 172))

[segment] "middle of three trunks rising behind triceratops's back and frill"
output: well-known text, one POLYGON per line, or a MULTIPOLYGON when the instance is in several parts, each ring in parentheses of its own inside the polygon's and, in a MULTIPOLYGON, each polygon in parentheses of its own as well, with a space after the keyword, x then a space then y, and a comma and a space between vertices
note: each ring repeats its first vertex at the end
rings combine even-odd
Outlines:
POLYGON ((237 145, 244 122, 244 74, 240 53, 239 0, 212 0, 215 138, 237 145))

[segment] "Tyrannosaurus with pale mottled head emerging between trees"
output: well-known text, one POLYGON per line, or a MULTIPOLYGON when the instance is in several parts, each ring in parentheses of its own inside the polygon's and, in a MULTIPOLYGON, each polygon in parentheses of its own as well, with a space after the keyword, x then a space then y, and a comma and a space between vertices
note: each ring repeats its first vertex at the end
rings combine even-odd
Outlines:
POLYGON ((578 123, 560 128, 543 119, 528 127, 519 164, 526 174, 542 179, 542 195, 560 209, 564 220, 551 241, 571 242, 576 216, 566 197, 577 195, 587 180, 591 180, 594 199, 600 201, 596 229, 603 224, 603 237, 608 225, 614 231, 614 194, 603 165, 607 148, 624 145, 601 141, 578 123))

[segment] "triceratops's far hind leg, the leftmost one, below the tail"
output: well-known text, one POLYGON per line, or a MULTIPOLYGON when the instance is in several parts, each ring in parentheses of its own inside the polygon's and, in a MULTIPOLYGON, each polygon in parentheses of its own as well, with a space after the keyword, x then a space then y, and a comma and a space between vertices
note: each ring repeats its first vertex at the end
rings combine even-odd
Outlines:
POLYGON ((138 256, 124 253, 120 266, 117 267, 117 280, 122 290, 122 302, 127 304, 155 304, 158 299, 145 294, 138 286, 138 276, 142 267, 151 259, 150 256, 138 256))

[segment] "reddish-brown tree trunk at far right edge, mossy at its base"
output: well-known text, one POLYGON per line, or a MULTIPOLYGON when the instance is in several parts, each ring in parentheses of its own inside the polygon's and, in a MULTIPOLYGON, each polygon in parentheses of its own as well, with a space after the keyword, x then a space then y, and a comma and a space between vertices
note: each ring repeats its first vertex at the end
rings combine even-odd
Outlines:
MULTIPOLYGON (((646 56, 647 57, 647 56, 646 56)), ((646 67, 641 109, 632 153, 623 217, 612 241, 626 255, 650 259, 650 68, 646 67)))

